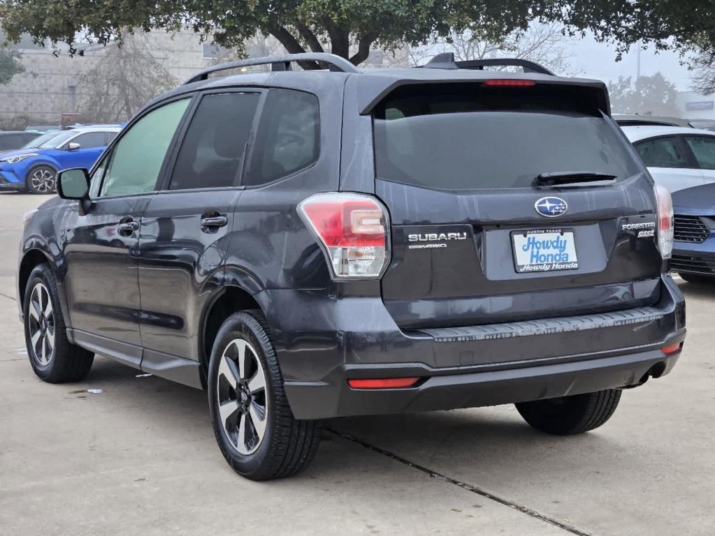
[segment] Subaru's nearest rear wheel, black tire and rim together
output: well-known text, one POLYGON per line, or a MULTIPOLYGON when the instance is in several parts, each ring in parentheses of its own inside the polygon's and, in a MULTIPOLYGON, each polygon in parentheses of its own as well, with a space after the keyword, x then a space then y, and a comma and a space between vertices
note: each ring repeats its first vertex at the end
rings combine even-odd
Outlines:
POLYGON ((208 379, 214 435, 233 470, 250 480, 272 480, 310 464, 320 426, 293 418, 260 311, 234 313, 225 320, 208 379))

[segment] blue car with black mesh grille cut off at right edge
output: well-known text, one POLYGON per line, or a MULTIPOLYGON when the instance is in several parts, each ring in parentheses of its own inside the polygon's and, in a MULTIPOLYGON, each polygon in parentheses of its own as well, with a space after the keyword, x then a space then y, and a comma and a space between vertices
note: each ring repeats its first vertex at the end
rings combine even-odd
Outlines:
POLYGON ((715 183, 673 194, 671 270, 692 283, 715 283, 715 183))

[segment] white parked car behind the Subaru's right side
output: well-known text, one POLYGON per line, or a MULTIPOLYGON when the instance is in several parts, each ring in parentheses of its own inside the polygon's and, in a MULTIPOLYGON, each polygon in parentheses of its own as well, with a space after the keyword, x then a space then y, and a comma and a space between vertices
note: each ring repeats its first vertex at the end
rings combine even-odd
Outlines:
POLYGON ((715 182, 715 132, 673 126, 625 126, 657 184, 676 192, 715 182))

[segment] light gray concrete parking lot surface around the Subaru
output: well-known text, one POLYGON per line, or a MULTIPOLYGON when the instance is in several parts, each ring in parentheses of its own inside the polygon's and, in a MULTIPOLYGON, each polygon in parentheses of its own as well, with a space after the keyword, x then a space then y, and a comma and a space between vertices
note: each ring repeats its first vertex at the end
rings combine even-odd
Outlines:
POLYGON ((14 276, 21 216, 45 199, 0 194, 0 534, 715 532, 715 285, 679 280, 679 364, 594 432, 543 435, 513 406, 331 420, 306 472, 250 482, 205 393, 102 357, 81 383, 32 373, 14 276))

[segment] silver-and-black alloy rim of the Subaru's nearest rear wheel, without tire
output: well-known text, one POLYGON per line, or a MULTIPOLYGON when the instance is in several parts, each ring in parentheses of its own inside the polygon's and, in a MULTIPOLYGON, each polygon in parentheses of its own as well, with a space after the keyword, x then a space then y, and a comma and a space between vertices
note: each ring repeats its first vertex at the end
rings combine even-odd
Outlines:
POLYGON ((266 376, 257 350, 245 339, 232 340, 221 355, 217 374, 217 402, 226 437, 240 454, 252 454, 260 447, 268 422, 266 376))

